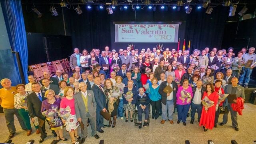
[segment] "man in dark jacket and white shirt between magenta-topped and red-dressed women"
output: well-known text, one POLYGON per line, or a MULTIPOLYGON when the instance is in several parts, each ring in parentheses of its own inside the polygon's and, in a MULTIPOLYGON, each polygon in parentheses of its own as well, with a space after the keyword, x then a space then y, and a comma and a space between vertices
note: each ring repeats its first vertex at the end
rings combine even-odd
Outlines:
POLYGON ((192 109, 192 111, 191 111, 190 124, 194 123, 196 111, 197 111, 197 115, 198 115, 198 117, 197 117, 198 122, 200 121, 200 118, 201 118, 201 114, 202 114, 201 100, 202 100, 202 97, 203 97, 203 94, 204 94, 204 88, 202 87, 202 85, 203 85, 202 80, 198 80, 196 82, 196 86, 194 86, 192 88, 193 97, 191 99, 191 109, 192 109))

